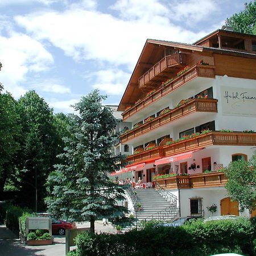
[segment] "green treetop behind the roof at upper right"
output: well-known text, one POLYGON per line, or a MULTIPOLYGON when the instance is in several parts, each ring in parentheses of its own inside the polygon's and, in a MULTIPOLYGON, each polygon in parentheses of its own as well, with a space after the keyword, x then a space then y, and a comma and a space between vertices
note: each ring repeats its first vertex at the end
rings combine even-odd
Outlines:
POLYGON ((245 3, 245 10, 226 19, 226 25, 234 31, 256 35, 256 1, 245 3))

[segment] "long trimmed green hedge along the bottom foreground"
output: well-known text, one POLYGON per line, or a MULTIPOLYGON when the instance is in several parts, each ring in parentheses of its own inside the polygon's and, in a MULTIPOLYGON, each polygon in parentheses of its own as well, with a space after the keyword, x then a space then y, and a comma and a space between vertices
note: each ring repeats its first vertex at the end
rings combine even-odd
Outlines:
POLYGON ((180 227, 147 226, 124 234, 82 233, 74 256, 175 255, 218 253, 256 255, 255 220, 192 221, 180 227))

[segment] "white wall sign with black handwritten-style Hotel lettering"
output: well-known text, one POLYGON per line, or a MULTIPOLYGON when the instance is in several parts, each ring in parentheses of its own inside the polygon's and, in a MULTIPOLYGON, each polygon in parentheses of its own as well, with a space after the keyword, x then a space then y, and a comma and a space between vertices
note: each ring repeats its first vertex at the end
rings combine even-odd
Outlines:
POLYGON ((256 117, 256 90, 221 86, 223 115, 256 117))

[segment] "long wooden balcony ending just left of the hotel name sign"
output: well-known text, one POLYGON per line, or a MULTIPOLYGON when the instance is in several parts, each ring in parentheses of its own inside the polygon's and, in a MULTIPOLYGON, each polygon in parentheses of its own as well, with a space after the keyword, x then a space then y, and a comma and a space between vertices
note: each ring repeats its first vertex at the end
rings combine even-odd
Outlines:
POLYGON ((217 113, 217 101, 214 99, 193 99, 181 105, 179 108, 172 109, 170 112, 159 115, 152 121, 144 123, 138 128, 131 130, 120 137, 120 142, 125 143, 134 137, 138 137, 148 131, 157 129, 162 125, 166 125, 178 118, 183 118, 185 115, 194 112, 215 112, 217 113))

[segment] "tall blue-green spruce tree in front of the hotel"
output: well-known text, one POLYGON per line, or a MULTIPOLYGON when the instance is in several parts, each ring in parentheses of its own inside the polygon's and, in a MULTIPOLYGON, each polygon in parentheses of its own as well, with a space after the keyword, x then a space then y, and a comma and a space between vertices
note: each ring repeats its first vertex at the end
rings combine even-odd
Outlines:
POLYGON ((105 98, 94 90, 75 105, 80 115, 72 117, 72 136, 65 138, 64 153, 59 155, 62 164, 48 178, 52 188, 49 211, 69 220, 89 220, 93 233, 97 218, 122 218, 127 213, 127 208, 117 205, 124 199, 123 188, 108 177, 123 156, 110 152, 117 139, 112 133, 117 120, 102 105, 105 98))

